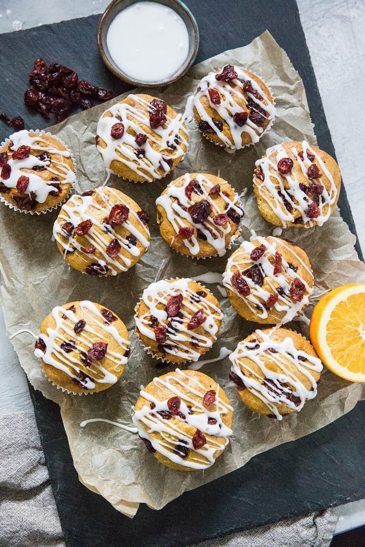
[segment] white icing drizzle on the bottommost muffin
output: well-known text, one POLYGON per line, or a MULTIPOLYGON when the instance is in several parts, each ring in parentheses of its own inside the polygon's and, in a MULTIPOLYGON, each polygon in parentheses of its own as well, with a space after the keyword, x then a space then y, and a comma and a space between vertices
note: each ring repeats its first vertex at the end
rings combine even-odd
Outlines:
POLYGON ((164 379, 154 378, 153 383, 157 388, 169 389, 171 397, 179 397, 181 399, 179 411, 182 412, 185 419, 179 416, 173 416, 173 418, 199 429, 206 437, 206 444, 200 449, 194 449, 193 435, 190 435, 173 423, 175 420, 164 420, 157 414, 159 411, 169 410, 167 406, 168 399, 159 401, 147 391, 141 391, 141 397, 147 399, 149 403, 154 403, 155 406, 151 409, 148 404, 144 405, 141 410, 136 410, 132 421, 138 429, 138 435, 142 439, 147 439, 155 450, 166 458, 169 458, 171 462, 192 469, 206 469, 215 462, 214 456, 216 451, 223 450, 229 443, 229 436, 232 434, 232 430, 225 426, 222 417, 227 414, 228 410, 233 409, 229 404, 223 402, 219 396, 220 387, 217 385, 216 400, 210 405, 213 409, 208 410, 202 404, 202 398, 207 389, 198 380, 187 375, 184 371, 176 369, 175 373, 177 373, 177 376, 175 374, 166 375, 164 379), (185 390, 188 390, 188 393, 185 390), (196 401, 194 396, 200 397, 201 401, 196 401), (187 405, 192 407, 191 410, 187 405), (194 414, 189 414, 189 411, 193 411, 194 414), (215 419, 216 423, 208 424, 208 417, 215 419), (162 439, 152 437, 151 433, 154 432, 158 432, 162 439), (216 437, 223 438, 224 443, 219 443, 215 439, 216 437), (193 455, 192 461, 188 461, 179 455, 177 445, 189 450, 189 456, 193 455), (173 452, 174 449, 177 453, 173 452))

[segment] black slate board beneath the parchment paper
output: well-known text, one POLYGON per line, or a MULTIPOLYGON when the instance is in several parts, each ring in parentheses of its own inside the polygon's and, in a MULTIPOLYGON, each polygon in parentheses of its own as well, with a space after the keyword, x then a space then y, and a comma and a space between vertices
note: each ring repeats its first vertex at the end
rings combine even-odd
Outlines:
MULTIPOLYGON (((245 45, 266 28, 303 78, 318 145, 334 156, 322 101, 293 0, 186 0, 198 21, 197 61, 245 45)), ((112 89, 130 89, 103 65, 96 48, 100 16, 0 36, 0 110, 22 115, 27 127, 49 124, 22 103, 32 61, 43 56, 76 69, 80 77, 112 89)), ((137 39, 137 36, 136 36, 137 39)), ((0 137, 8 128, 0 128, 0 137)), ((339 207, 354 221, 341 189, 339 207)), ((360 246, 356 246, 362 258, 360 246)), ((73 468, 58 406, 30 386, 51 484, 68 547, 170 547, 309 513, 365 495, 363 405, 316 433, 254 457, 243 468, 187 492, 160 511, 141 506, 130 520, 83 487, 73 468)))

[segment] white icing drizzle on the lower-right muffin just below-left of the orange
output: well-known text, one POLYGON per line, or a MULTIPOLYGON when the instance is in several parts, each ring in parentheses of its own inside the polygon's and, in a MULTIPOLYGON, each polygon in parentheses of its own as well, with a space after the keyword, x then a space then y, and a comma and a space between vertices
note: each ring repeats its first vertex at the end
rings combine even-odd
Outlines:
POLYGON ((256 340, 239 342, 229 359, 232 363, 231 371, 240 377, 245 387, 262 400, 278 420, 282 420, 276 405, 284 403, 288 408, 299 412, 306 399, 314 399, 317 395, 317 383, 311 371, 321 372, 323 366, 318 357, 313 357, 303 350, 297 350, 291 337, 287 336, 282 342, 275 341, 271 337, 274 331, 275 329, 272 329, 269 333, 265 333, 257 329, 253 333, 256 340), (257 345, 259 345, 258 348, 256 348, 257 345), (269 351, 269 348, 274 349, 276 353, 269 351), (305 357, 305 360, 299 360, 298 356, 305 357), (263 377, 244 362, 245 357, 251 359, 260 368, 263 377), (311 389, 307 389, 297 375, 289 371, 289 363, 295 365, 298 372, 310 381, 311 389), (278 366, 280 373, 271 370, 270 364, 278 366), (245 375, 245 371, 250 373, 250 377, 245 375), (264 380, 270 380, 270 382, 263 383, 264 380), (291 400, 293 395, 297 398, 295 402, 291 400))

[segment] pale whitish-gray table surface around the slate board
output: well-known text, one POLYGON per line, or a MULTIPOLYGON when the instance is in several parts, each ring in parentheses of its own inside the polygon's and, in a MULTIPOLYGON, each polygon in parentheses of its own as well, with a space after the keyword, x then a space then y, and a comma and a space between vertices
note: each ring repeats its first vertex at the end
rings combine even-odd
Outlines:
MULTIPOLYGON (((201 0, 200 0, 201 1, 201 0)), ((253 0, 254 1, 254 0, 253 0)), ((365 251, 365 2, 297 0, 360 245, 365 251)), ((108 0, 0 0, 0 34, 101 13, 108 0)), ((207 2, 208 3, 208 2, 207 2)), ((0 306, 0 414, 32 408, 0 306)), ((336 533, 365 523, 365 500, 341 505, 336 533)))

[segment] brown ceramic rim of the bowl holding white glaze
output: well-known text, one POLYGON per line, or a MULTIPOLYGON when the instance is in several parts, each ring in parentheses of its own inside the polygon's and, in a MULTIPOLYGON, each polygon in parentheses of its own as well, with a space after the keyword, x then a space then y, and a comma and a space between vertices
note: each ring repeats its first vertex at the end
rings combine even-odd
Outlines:
MULTIPOLYGON (((103 43, 102 43, 102 35, 103 35, 103 32, 105 31, 105 24, 106 24, 106 20, 108 18, 108 15, 115 8, 115 6, 117 6, 118 4, 123 5, 125 1, 126 0, 112 0, 112 2, 107 5, 105 11, 103 12, 102 18, 99 21, 99 25, 97 27, 97 47, 99 49, 99 53, 102 57, 103 62, 105 63, 107 68, 115 76, 117 76, 117 78, 119 78, 120 80, 123 80, 124 82, 126 82, 130 85, 139 86, 139 87, 147 87, 147 88, 158 88, 158 87, 161 87, 161 86, 164 86, 164 85, 169 85, 169 84, 172 84, 173 82, 176 82, 176 80, 178 80, 184 74, 186 74, 186 72, 189 70, 189 68, 193 65, 193 63, 196 59, 196 55, 198 54, 199 28, 198 28, 198 24, 196 23, 196 20, 195 20, 195 17, 193 15, 192 11, 190 11, 190 9, 187 7, 187 5, 184 4, 184 2, 182 2, 181 0, 169 0, 169 2, 171 2, 172 4, 177 4, 178 7, 180 9, 182 9, 187 14, 188 20, 190 21, 191 28, 193 30, 194 47, 193 47, 192 53, 187 57, 187 59, 181 65, 182 69, 179 72, 175 73, 175 75, 172 78, 169 78, 167 80, 159 80, 159 82, 143 82, 141 80, 135 80, 133 78, 130 78, 127 74, 125 74, 124 72, 121 72, 116 64, 111 63, 108 59, 108 55, 106 54, 105 48, 104 48, 103 43)), ((140 2, 140 1, 147 1, 147 0, 131 0, 130 5, 134 4, 136 2, 140 2)), ((160 0, 151 0, 151 1, 156 2, 158 4, 163 4, 163 2, 160 2, 160 0)), ((125 9, 125 8, 121 8, 118 11, 118 13, 120 13, 120 11, 122 11, 123 9, 125 9)), ((171 9, 173 9, 173 5, 171 5, 171 9)), ((178 13, 178 11, 177 11, 177 13, 178 13)), ((111 24, 113 19, 111 19, 111 21, 109 22, 109 25, 111 24)), ((109 28, 109 25, 107 26, 107 28, 109 28)))

